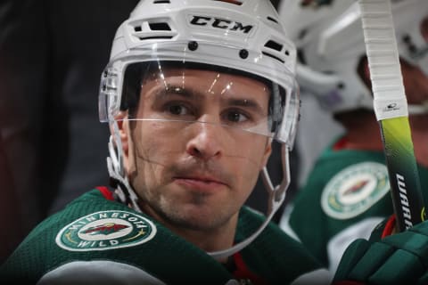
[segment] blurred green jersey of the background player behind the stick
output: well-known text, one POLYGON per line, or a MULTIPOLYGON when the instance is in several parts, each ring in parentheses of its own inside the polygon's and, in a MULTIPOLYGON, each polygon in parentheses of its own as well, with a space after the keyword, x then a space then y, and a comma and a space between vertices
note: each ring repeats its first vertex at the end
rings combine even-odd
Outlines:
MULTIPOLYGON (((383 151, 340 145, 341 140, 335 141, 317 159, 289 220, 299 240, 333 272, 352 240, 368 239, 393 214, 383 151)), ((422 188, 428 189, 428 169, 418 170, 422 188)))

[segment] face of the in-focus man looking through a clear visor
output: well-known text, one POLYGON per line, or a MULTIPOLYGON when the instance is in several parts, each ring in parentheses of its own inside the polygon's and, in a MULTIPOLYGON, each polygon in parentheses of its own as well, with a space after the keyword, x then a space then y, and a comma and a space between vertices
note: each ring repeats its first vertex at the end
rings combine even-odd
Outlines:
POLYGON ((144 80, 140 96, 136 118, 152 120, 124 122, 126 168, 140 206, 193 230, 233 223, 271 151, 268 137, 243 130, 268 129, 266 85, 166 69, 144 80))

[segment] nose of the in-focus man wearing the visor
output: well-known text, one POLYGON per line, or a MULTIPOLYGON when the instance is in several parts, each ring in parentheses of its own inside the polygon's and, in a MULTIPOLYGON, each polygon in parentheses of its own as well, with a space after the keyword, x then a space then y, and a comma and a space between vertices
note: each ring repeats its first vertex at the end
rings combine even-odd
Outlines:
POLYGON ((186 151, 190 155, 202 159, 220 159, 223 155, 225 139, 224 126, 217 123, 193 123, 192 138, 187 142, 186 151))

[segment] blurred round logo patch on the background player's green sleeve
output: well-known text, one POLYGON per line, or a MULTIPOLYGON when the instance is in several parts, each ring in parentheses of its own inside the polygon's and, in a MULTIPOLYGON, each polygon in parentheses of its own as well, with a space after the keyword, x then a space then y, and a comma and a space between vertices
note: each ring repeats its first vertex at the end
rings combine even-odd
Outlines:
POLYGON ((387 168, 377 162, 363 162, 344 168, 325 185, 321 207, 336 219, 364 213, 390 190, 387 168))

